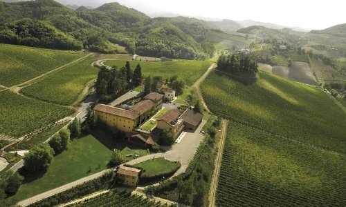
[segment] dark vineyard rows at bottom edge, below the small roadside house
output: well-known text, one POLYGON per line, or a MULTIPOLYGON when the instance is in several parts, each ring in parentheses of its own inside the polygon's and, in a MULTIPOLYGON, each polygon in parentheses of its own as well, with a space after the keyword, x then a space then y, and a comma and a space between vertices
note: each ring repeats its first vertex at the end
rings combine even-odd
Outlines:
POLYGON ((83 207, 93 207, 93 206, 114 206, 114 207, 122 207, 122 206, 131 206, 131 207, 159 207, 159 206, 167 206, 162 205, 159 202, 152 201, 148 198, 143 198, 138 195, 131 195, 131 193, 127 193, 125 191, 117 192, 117 191, 109 191, 107 193, 103 193, 98 197, 94 197, 91 199, 86 199, 81 201, 78 204, 72 204, 69 206, 83 206, 83 207))

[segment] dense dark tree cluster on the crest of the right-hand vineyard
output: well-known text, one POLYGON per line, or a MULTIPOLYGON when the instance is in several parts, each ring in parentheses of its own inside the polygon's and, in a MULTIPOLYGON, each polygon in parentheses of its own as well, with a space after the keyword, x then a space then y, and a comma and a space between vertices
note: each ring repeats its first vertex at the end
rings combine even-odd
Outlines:
POLYGON ((217 60, 217 69, 235 75, 253 77, 258 71, 256 61, 248 56, 221 55, 217 60))

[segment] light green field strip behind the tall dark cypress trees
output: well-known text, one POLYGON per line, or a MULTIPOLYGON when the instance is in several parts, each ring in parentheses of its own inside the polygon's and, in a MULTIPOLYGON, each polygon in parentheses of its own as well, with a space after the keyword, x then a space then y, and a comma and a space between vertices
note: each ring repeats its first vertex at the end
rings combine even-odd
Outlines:
MULTIPOLYGON (((125 66, 124 60, 111 60, 106 61, 108 66, 117 66, 122 68, 125 66)), ((170 78, 177 75, 183 79, 188 86, 192 84, 203 75, 209 68, 209 61, 166 61, 166 62, 146 62, 146 61, 130 61, 132 70, 140 63, 142 74, 144 76, 161 76, 163 79, 170 78)))

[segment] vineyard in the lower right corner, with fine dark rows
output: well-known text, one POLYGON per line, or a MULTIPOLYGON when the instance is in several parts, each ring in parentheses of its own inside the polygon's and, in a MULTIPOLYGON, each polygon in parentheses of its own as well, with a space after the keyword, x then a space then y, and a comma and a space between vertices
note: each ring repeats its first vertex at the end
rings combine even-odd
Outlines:
POLYGON ((345 206, 346 155, 230 121, 216 206, 345 206))

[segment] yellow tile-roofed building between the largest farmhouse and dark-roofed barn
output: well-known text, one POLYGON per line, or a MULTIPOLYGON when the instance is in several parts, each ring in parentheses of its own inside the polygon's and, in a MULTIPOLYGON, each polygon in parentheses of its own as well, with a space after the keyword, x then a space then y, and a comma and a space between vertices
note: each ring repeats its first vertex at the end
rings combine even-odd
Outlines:
POLYGON ((173 109, 167 111, 157 120, 157 128, 161 130, 170 130, 174 137, 177 137, 184 128, 183 119, 180 119, 179 110, 173 109))

